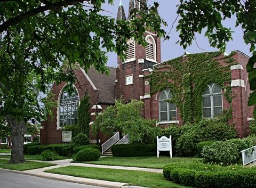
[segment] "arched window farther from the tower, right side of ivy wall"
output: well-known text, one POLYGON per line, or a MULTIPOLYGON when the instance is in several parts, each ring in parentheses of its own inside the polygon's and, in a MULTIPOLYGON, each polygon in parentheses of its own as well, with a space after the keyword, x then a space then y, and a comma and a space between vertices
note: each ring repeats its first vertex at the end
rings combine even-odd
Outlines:
POLYGON ((203 117, 214 118, 222 115, 222 91, 216 84, 210 84, 203 93, 203 117))

